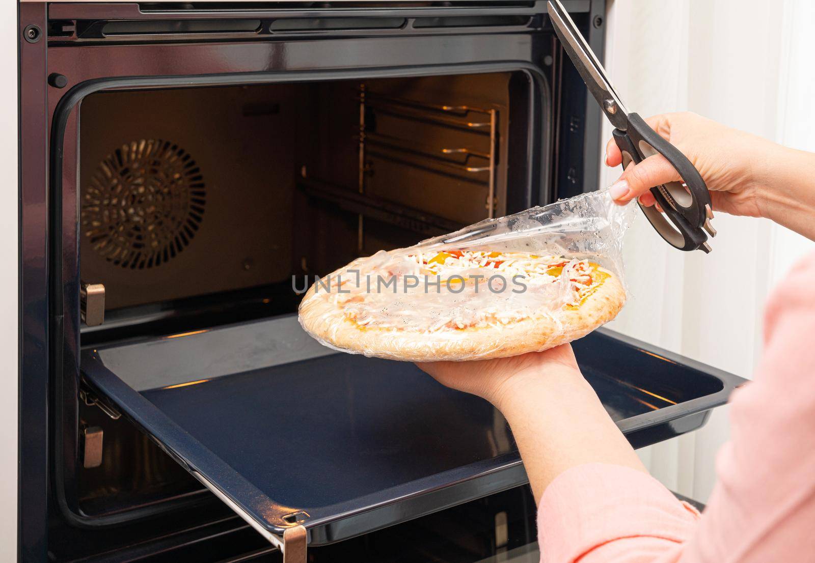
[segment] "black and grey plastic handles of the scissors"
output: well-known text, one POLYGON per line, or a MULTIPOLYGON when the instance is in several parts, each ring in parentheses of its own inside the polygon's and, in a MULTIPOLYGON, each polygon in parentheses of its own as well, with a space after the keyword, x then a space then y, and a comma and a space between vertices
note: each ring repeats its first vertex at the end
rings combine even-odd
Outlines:
POLYGON ((704 245, 707 235, 702 227, 711 204, 710 193, 702 175, 685 155, 660 137, 636 113, 628 114, 628 121, 630 125, 628 131, 614 130, 615 143, 623 153, 623 169, 631 161, 638 163, 647 156, 659 152, 676 169, 687 187, 685 189, 679 182, 652 187, 650 191, 663 209, 664 215, 655 207, 640 205, 645 217, 659 235, 677 249, 703 249, 709 252, 709 247, 704 245), (666 193, 668 197, 665 196, 666 193))

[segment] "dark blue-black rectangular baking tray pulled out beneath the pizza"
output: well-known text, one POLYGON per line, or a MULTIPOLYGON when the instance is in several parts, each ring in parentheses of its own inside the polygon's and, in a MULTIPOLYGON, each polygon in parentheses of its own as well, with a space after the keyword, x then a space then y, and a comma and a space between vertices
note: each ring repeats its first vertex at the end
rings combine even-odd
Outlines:
MULTIPOLYGON (((606 330, 574 346, 634 446, 698 429, 744 381, 606 330)), ((296 316, 86 349, 81 372, 262 533, 332 543, 526 482, 488 402, 324 348, 296 316)))

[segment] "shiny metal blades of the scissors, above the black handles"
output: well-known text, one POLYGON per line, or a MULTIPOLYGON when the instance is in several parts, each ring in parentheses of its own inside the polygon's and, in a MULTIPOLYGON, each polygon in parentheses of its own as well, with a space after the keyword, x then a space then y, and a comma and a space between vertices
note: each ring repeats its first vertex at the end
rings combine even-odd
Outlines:
POLYGON ((611 125, 619 130, 626 130, 628 128, 626 118, 628 110, 623 106, 614 87, 606 77, 606 70, 597 60, 583 35, 577 30, 575 22, 571 20, 563 5, 558 0, 549 0, 547 4, 549 19, 552 20, 563 50, 575 64, 588 90, 597 99, 597 103, 611 121, 611 125))

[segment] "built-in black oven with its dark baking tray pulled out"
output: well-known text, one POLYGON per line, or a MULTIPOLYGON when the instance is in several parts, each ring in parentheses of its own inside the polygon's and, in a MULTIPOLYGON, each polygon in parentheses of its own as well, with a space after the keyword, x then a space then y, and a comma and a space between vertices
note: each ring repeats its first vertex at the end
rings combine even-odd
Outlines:
MULTIPOLYGON (((564 3, 600 53, 604 3, 564 3)), ((296 311, 355 257, 597 186, 545 14, 20 5, 24 561, 537 557, 500 413, 296 311)), ((635 446, 740 381, 607 330, 575 350, 635 446)))

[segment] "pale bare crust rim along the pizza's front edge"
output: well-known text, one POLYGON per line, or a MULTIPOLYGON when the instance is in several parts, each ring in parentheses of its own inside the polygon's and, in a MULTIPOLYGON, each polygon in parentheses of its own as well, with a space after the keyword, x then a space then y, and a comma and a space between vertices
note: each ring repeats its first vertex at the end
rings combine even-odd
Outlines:
POLYGON ((558 311, 555 316, 540 314, 500 326, 408 332, 360 327, 346 317, 341 307, 315 294, 315 285, 312 285, 303 297, 299 312, 306 332, 338 350, 409 362, 437 362, 504 358, 553 348, 585 336, 614 319, 623 308, 625 297, 623 285, 609 272, 579 307, 558 311))

